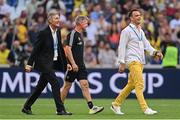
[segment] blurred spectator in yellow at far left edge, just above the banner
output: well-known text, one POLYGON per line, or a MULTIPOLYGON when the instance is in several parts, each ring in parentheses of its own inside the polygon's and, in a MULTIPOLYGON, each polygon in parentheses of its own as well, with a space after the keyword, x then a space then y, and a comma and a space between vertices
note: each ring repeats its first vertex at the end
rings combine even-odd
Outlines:
POLYGON ((8 64, 8 55, 9 55, 10 50, 6 48, 6 43, 3 42, 0 44, 0 64, 5 65, 8 64))

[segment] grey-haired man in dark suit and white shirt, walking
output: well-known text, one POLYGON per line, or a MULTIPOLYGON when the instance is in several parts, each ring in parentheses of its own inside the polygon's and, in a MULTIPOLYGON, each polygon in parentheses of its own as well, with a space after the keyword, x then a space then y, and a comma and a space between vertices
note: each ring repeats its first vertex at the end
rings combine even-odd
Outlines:
POLYGON ((67 69, 67 61, 61 43, 60 29, 58 29, 60 16, 56 10, 51 10, 47 17, 49 25, 40 31, 37 36, 34 49, 25 66, 26 72, 30 72, 34 65, 34 68, 40 71, 41 75, 35 90, 24 104, 22 112, 32 114, 31 106, 49 82, 56 104, 56 114, 71 115, 72 113, 65 110, 64 104, 61 101, 60 84, 55 75, 55 70, 64 72, 67 69))

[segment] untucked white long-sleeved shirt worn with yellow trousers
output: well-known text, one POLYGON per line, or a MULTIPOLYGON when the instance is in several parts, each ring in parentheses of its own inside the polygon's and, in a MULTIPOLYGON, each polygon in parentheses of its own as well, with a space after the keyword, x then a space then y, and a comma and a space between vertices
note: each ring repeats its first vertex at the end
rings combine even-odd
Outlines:
POLYGON ((138 30, 134 24, 130 23, 121 32, 118 62, 129 64, 138 61, 145 64, 144 50, 149 52, 150 55, 153 55, 153 52, 156 51, 146 39, 143 30, 138 30))

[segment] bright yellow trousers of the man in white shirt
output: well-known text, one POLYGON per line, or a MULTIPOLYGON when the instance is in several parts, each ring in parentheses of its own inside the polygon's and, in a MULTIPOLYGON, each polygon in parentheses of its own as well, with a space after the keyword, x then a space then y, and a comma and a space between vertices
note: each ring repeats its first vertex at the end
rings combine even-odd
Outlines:
POLYGON ((131 62, 128 65, 129 68, 129 78, 127 85, 123 88, 122 92, 117 96, 115 101, 112 103, 116 106, 121 106, 126 97, 130 94, 130 92, 135 89, 136 97, 139 102, 139 105, 144 112, 148 106, 144 99, 143 88, 144 88, 144 80, 143 80, 143 65, 139 62, 131 62))

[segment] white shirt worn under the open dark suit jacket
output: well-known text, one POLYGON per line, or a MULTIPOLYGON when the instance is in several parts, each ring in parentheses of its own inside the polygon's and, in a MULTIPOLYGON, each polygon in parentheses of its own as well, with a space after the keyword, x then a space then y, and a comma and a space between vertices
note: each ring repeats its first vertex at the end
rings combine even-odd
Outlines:
POLYGON ((51 26, 49 26, 51 29, 52 37, 53 37, 53 47, 54 47, 54 58, 53 60, 56 61, 58 58, 58 38, 57 38, 57 29, 54 31, 51 26))

